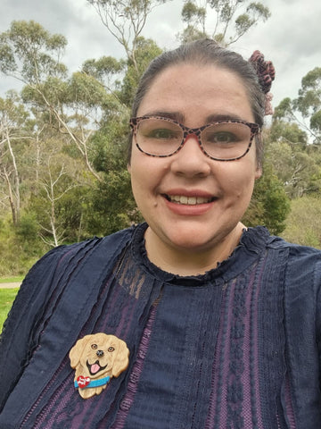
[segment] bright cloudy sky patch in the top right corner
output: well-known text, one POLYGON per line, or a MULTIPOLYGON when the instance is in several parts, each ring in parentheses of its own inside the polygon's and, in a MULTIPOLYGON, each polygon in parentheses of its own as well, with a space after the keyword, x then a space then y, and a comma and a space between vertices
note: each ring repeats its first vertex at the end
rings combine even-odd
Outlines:
POLYGON ((321 65, 321 3, 310 0, 269 0, 271 18, 240 40, 239 47, 259 49, 276 66, 272 87, 274 104, 284 97, 297 97, 300 81, 308 71, 321 65))

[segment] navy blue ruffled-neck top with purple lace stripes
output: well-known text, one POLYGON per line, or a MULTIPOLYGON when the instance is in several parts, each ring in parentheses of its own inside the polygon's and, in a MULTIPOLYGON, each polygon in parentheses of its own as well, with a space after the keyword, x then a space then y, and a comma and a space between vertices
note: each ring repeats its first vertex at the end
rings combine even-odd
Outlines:
POLYGON ((1 342, 0 427, 321 428, 321 252, 258 227, 209 273, 180 277, 150 263, 145 228, 31 269, 1 342), (95 332, 126 341, 130 363, 83 400, 68 354, 95 332))

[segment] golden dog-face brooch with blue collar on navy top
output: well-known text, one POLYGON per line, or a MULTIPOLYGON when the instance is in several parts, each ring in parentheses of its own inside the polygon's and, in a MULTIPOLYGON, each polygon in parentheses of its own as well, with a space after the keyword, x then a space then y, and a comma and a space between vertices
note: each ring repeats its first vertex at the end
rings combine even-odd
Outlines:
POLYGON ((102 393, 111 378, 118 377, 129 364, 126 342, 103 332, 78 340, 69 356, 70 366, 76 370, 75 388, 85 400, 102 393))

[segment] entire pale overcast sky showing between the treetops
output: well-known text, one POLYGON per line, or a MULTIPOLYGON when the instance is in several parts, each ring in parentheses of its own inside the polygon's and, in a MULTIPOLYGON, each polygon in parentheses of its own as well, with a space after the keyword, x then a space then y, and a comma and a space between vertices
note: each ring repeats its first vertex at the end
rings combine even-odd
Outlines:
MULTIPOLYGON (((259 49, 276 66, 272 92, 274 105, 284 97, 296 97, 300 80, 308 71, 321 67, 320 0, 261 0, 272 13, 265 23, 240 39, 235 50, 248 58, 259 49)), ((172 0, 154 9, 144 29, 145 38, 154 39, 161 48, 177 46, 182 29, 182 0, 172 0)), ((88 58, 102 55, 125 57, 122 47, 103 26, 86 0, 0 0, 0 32, 13 20, 34 20, 51 33, 68 40, 64 57, 70 71, 77 71, 88 58)), ((0 97, 14 84, 1 77, 0 97)))

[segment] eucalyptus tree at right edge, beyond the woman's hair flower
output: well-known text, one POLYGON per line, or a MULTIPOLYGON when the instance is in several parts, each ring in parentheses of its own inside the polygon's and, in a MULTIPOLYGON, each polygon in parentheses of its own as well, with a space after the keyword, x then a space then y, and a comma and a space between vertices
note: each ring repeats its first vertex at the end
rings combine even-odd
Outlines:
POLYGON ((298 97, 276 106, 268 158, 291 198, 321 190, 321 68, 301 80, 298 97), (278 167, 277 167, 278 166, 278 167))

